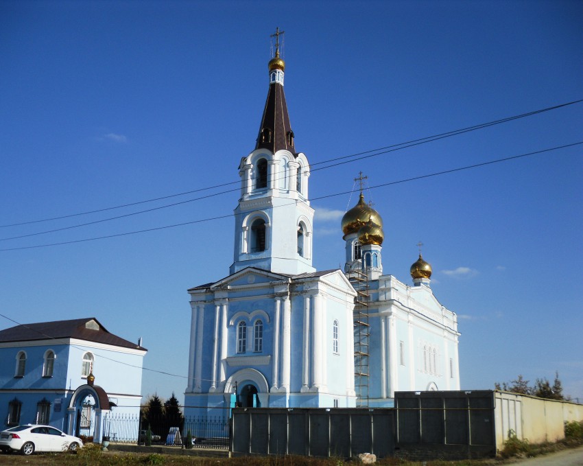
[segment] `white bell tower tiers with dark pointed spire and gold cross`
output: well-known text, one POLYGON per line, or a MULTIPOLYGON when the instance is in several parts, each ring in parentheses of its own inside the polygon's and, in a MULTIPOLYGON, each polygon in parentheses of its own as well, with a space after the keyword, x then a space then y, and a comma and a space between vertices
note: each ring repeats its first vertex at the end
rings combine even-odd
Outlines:
POLYGON ((276 29, 268 63, 269 90, 254 150, 241 159, 241 198, 235 208, 235 248, 230 273, 246 267, 299 275, 312 266, 313 209, 310 167, 296 150, 283 92, 285 62, 276 29))

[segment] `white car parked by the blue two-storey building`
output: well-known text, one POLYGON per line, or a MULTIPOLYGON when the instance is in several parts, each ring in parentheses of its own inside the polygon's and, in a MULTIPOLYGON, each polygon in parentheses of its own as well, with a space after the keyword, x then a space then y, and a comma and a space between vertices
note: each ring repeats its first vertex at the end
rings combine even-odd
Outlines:
POLYGON ((29 455, 34 452, 76 452, 83 446, 81 439, 67 435, 51 426, 26 424, 0 432, 0 450, 29 455))

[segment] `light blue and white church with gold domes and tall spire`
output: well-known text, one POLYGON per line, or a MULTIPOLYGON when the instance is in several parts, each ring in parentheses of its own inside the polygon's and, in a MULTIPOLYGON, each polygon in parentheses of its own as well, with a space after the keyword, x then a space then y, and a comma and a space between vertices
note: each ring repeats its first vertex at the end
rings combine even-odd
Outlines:
POLYGON ((395 391, 459 389, 456 316, 421 255, 412 286, 383 275, 382 219, 362 190, 342 219, 344 272, 312 266, 310 166, 287 112, 280 34, 257 142, 239 163, 230 275, 188 290, 185 415, 391 407, 395 391))

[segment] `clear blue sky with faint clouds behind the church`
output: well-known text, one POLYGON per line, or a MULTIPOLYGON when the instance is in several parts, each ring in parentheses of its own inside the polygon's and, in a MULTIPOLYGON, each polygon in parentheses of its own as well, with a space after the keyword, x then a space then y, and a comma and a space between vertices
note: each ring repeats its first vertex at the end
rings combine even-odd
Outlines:
MULTIPOLYGON (((26 247, 230 215, 237 185, 5 225, 236 182, 276 27, 296 148, 315 169, 583 99, 582 24, 582 2, 556 0, 1 2, 0 329, 95 316, 143 337, 144 395, 182 399, 187 289, 228 275, 233 218, 26 247)), ((340 218, 357 198, 322 196, 353 189, 359 171, 373 187, 556 148, 583 141, 582 122, 572 104, 314 170, 314 265, 343 265, 340 218)), ((385 273, 409 283, 425 244, 434 293, 459 317, 464 389, 558 371, 583 401, 582 147, 365 193, 383 217, 385 273)))

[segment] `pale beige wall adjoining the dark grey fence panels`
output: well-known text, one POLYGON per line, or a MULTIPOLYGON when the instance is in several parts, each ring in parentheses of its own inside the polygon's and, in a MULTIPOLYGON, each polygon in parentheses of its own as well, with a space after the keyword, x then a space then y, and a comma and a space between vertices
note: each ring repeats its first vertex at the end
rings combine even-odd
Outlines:
POLYGON ((495 391, 496 447, 503 448, 512 431, 530 443, 564 438, 564 423, 583 421, 583 405, 495 391))

